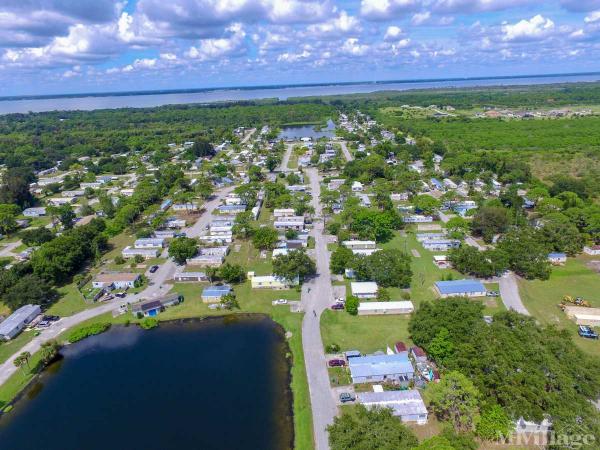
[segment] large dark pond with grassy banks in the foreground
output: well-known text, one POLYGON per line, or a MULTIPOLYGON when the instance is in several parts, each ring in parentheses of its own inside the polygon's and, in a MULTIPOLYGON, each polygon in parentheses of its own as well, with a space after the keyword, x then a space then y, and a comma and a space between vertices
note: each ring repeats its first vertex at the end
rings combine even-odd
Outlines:
POLYGON ((290 449, 286 349, 263 317, 115 327, 64 349, 0 420, 0 448, 290 449))

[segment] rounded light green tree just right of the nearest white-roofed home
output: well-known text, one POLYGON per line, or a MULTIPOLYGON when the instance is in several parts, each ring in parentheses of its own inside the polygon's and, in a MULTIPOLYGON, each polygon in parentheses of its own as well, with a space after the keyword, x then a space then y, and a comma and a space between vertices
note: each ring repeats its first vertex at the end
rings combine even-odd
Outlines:
POLYGON ((438 418, 450 421, 459 431, 473 428, 481 394, 462 373, 447 373, 439 383, 428 385, 425 394, 438 418))

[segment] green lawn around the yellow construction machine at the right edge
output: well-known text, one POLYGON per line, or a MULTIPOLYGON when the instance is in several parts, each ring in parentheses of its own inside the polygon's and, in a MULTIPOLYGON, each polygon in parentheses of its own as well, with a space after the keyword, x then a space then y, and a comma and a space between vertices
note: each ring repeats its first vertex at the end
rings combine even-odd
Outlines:
POLYGON ((569 258, 564 266, 552 269, 547 281, 519 280, 519 292, 527 310, 545 324, 557 325, 573 332, 573 339, 584 351, 600 355, 600 342, 581 338, 577 325, 558 308, 563 296, 583 297, 600 307, 600 274, 586 266, 594 258, 569 258))

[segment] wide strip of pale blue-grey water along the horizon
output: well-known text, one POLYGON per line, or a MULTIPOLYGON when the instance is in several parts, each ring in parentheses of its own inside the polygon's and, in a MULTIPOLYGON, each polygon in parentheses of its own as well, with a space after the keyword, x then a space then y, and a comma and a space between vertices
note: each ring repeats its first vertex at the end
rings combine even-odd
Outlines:
POLYGON ((0 114, 44 111, 91 111, 94 109, 148 108, 153 106, 215 103, 290 97, 364 94, 377 91, 405 91, 444 87, 508 86, 599 81, 600 73, 551 76, 495 77, 447 80, 408 80, 377 83, 342 83, 309 86, 274 86, 206 89, 192 92, 90 94, 89 96, 59 96, 55 98, 0 99, 0 114))

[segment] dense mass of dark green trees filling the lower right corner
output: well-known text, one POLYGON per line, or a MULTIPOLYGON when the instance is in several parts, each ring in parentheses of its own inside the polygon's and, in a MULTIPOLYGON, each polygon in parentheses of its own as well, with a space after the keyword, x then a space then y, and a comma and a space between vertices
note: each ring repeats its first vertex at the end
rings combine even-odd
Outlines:
POLYGON ((568 331, 543 327, 515 312, 482 317, 483 306, 463 298, 422 303, 409 331, 444 374, 457 371, 481 394, 485 410, 499 405, 512 418, 541 421, 554 429, 577 426, 600 435, 600 363, 573 343, 568 331))

